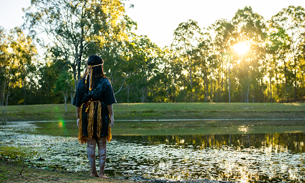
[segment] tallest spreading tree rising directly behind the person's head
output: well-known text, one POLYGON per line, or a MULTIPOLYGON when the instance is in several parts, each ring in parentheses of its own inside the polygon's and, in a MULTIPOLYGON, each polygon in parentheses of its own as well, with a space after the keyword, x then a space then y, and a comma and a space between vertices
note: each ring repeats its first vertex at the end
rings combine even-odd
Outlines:
POLYGON ((92 43, 125 37, 128 17, 120 0, 33 0, 24 9, 33 34, 44 34, 62 52, 73 71, 75 87, 81 77, 84 58, 92 54, 92 43))

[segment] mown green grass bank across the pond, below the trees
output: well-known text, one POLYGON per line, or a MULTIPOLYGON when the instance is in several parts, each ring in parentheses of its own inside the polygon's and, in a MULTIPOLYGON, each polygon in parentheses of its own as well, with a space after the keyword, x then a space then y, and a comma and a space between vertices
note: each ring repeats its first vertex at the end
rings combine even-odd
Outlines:
MULTIPOLYGON (((114 104, 115 119, 305 118, 305 104, 278 103, 137 103, 114 104)), ((8 121, 75 120, 75 106, 8 106, 8 121)), ((0 114, 0 119, 2 114, 0 114)))

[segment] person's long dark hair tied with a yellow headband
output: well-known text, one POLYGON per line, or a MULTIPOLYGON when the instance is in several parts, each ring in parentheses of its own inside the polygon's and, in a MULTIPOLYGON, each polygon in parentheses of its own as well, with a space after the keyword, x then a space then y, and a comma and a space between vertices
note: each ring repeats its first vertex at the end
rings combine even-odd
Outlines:
MULTIPOLYGON (((87 60, 87 65, 88 66, 96 66, 96 65, 100 65, 100 64, 104 64, 104 60, 98 56, 98 55, 91 55, 89 56, 88 60, 87 60)), ((84 76, 81 78, 82 82, 83 82, 83 86, 88 89, 89 88, 89 82, 87 81, 87 83, 85 83, 85 77, 87 76, 87 69, 85 70, 85 74, 84 76)), ((95 81, 97 77, 102 77, 102 78, 107 78, 104 74, 104 65, 101 66, 96 66, 96 67, 92 67, 92 78, 91 78, 91 82, 92 82, 92 86, 94 87, 95 81)), ((108 79, 108 78, 107 78, 108 79)), ((87 80, 89 80, 89 76, 87 78, 87 80)))

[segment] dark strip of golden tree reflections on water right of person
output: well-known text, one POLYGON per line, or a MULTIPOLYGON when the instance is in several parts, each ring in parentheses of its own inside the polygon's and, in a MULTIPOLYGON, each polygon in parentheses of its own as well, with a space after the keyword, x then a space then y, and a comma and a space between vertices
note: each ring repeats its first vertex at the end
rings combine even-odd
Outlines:
POLYGON ((305 133, 227 134, 227 135, 154 135, 114 136, 114 139, 141 144, 167 144, 175 148, 229 146, 236 149, 258 148, 267 151, 305 153, 305 133))

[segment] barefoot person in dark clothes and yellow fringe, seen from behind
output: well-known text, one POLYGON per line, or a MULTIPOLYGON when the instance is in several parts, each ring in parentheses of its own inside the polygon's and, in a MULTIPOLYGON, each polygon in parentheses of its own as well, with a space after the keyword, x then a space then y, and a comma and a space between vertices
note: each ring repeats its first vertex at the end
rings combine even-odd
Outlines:
POLYGON ((110 80, 103 70, 104 60, 97 55, 89 56, 84 77, 77 84, 73 101, 76 106, 78 140, 87 143, 87 154, 92 173, 90 176, 108 178, 104 168, 106 141, 111 140, 114 126, 112 104, 116 103, 110 80), (96 144, 98 144, 100 174, 96 168, 96 144))

